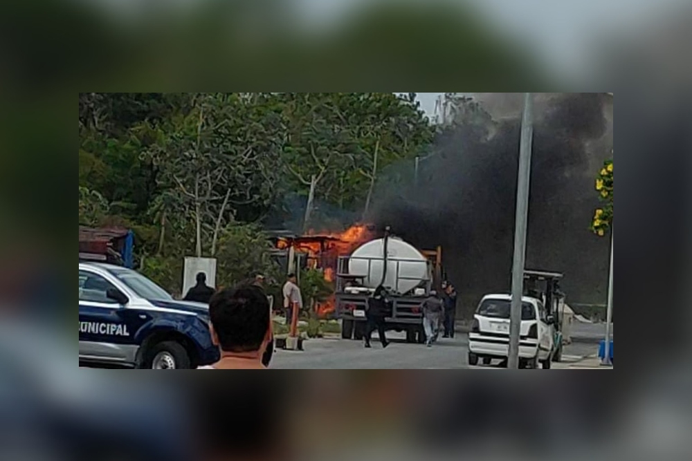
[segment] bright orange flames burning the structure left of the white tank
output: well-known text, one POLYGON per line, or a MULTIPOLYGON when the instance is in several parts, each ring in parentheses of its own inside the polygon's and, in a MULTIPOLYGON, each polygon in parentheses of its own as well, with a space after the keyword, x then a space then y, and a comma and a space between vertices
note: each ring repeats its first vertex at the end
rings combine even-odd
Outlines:
MULTIPOLYGON (((344 232, 315 232, 311 230, 306 236, 292 240, 280 239, 277 248, 286 250, 293 246, 297 252, 308 255, 307 266, 311 269, 321 269, 325 280, 336 281, 336 269, 339 256, 347 256, 361 244, 375 237, 372 227, 356 224, 344 232)), ((315 306, 319 317, 326 317, 336 310, 336 300, 331 297, 327 302, 315 306)))

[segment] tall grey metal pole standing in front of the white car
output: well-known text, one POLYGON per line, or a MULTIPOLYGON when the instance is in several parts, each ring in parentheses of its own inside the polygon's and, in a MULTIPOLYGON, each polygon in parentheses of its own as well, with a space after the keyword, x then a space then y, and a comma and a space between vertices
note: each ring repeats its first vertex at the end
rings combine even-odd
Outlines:
POLYGON ((509 326, 508 366, 511 370, 517 370, 519 368, 519 341, 521 335, 522 299, 524 296, 526 236, 529 218, 529 187, 531 185, 531 149, 533 148, 533 142, 534 97, 531 93, 526 93, 524 97, 524 115, 522 117, 521 147, 519 152, 511 323, 509 326))

